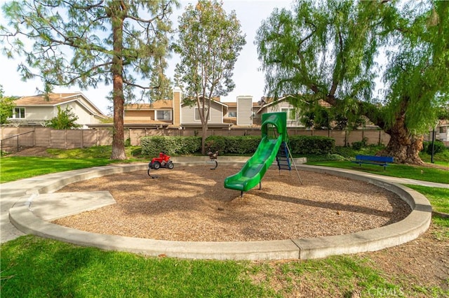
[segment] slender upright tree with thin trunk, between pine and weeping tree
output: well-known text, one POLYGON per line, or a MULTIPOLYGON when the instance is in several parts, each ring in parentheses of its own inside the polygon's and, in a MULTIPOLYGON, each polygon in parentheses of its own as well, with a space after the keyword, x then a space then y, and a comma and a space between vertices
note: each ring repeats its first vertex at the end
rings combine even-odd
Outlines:
POLYGON ((176 72, 187 99, 199 108, 204 154, 211 100, 234 90, 232 71, 246 44, 245 35, 236 13, 227 14, 216 0, 187 6, 179 17, 178 30, 174 49, 181 62, 176 72))

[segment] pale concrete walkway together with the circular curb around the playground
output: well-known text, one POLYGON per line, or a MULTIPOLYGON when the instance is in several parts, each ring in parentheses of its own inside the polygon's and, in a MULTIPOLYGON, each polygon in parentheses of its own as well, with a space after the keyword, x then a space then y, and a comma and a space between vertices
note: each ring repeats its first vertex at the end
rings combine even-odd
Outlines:
MULTIPOLYGON (((195 166, 208 159, 187 157, 174 160, 176 166, 195 166)), ((239 165, 247 158, 219 160, 220 166, 239 165)), ((323 166, 299 165, 300 171, 316 171, 335 176, 363 180, 384 187, 398 194, 412 208, 407 218, 392 225, 341 236, 317 237, 314 239, 288 239, 283 241, 248 242, 181 242, 154 239, 136 239, 125 236, 93 234, 54 225, 50 221, 62 216, 79 213, 107 204, 114 204, 109 192, 81 194, 53 194, 61 187, 80 180, 96 178, 127 171, 147 171, 147 164, 115 164, 62 173, 52 173, 0 184, 1 192, 1 243, 20 235, 36 234, 83 246, 95 246, 105 250, 121 250, 145 255, 167 255, 168 257, 202 258, 217 260, 281 260, 309 259, 361 253, 397 246, 416 239, 424 233, 431 222, 431 206, 422 194, 398 183, 420 184, 434 187, 449 187, 441 183, 378 176, 346 169, 323 166), (12 224, 11 224, 12 222, 12 224)))

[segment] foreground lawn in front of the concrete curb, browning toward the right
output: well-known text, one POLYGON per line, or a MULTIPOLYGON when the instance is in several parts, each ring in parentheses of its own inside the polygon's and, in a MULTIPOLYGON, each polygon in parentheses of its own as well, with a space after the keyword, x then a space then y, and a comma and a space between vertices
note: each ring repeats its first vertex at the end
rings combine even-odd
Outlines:
MULTIPOLYGON (((289 297, 298 290, 350 297, 372 289, 406 297, 449 295, 376 269, 369 257, 235 262, 144 257, 22 236, 1 246, 2 297, 289 297)), ((319 297, 316 296, 316 297, 319 297)), ((388 296, 380 296, 388 297, 388 296)))

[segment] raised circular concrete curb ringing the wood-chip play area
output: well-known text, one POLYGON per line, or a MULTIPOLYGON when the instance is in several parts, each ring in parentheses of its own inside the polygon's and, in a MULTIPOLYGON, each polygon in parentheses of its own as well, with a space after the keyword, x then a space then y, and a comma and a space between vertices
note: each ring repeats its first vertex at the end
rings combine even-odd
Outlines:
MULTIPOLYGON (((177 166, 195 166, 202 162, 182 162, 174 160, 177 166)), ((244 162, 220 160, 222 165, 239 165, 244 162)), ((431 205, 419 192, 396 183, 389 183, 378 176, 346 169, 323 166, 297 166, 301 171, 314 171, 363 180, 398 194, 407 202, 412 212, 400 222, 367 231, 340 236, 322 236, 312 239, 290 239, 279 241, 234 241, 234 242, 184 242, 140 239, 127 236, 95 234, 78 229, 62 227, 46 222, 32 213, 30 197, 52 193, 61 187, 81 180, 128 171, 147 171, 147 164, 116 164, 90 169, 67 171, 20 180, 25 187, 25 195, 9 211, 15 227, 27 234, 58 239, 81 246, 95 246, 105 250, 120 250, 144 255, 181 257, 188 259, 215 260, 285 260, 312 259, 329 255, 363 253, 398 246, 424 233, 431 222, 431 205)))

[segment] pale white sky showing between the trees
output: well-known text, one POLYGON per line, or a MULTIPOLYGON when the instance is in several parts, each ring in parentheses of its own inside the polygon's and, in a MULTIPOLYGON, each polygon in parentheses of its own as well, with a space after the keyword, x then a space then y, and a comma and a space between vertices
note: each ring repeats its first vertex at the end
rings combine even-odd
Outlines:
MULTIPOLYGON (((241 22, 241 31, 246 34, 246 45, 240 52, 239 59, 234 67, 233 80, 236 84, 234 91, 227 96, 222 96, 222 101, 236 101, 239 95, 250 95, 253 101, 258 101, 264 96, 264 73, 260 71, 260 62, 257 59, 257 48, 254 44, 255 34, 260 27, 262 20, 267 19, 274 8, 290 8, 293 0, 224 0, 223 8, 227 13, 235 10, 238 19, 241 22)), ((5 0, 0 0, 0 6, 5 0)), ((180 1, 178 8, 172 15, 173 28, 177 27, 177 16, 181 15, 185 7, 189 3, 196 1, 180 1)), ((1 15, 0 20, 4 20, 1 15)), ((0 21, 1 22, 1 21, 0 21)), ((17 66, 21 59, 8 59, 4 55, 0 55, 0 85, 3 86, 6 96, 32 96, 36 94, 36 88, 43 90, 41 80, 27 80, 23 82, 17 71, 17 66)), ((180 59, 176 54, 168 60, 167 76, 173 79, 175 65, 180 59)), ((100 86, 96 89, 80 90, 78 86, 73 87, 55 87, 54 92, 82 92, 86 97, 95 104, 102 113, 109 113, 108 107, 112 103, 108 101, 107 95, 112 90, 112 85, 100 86)))

